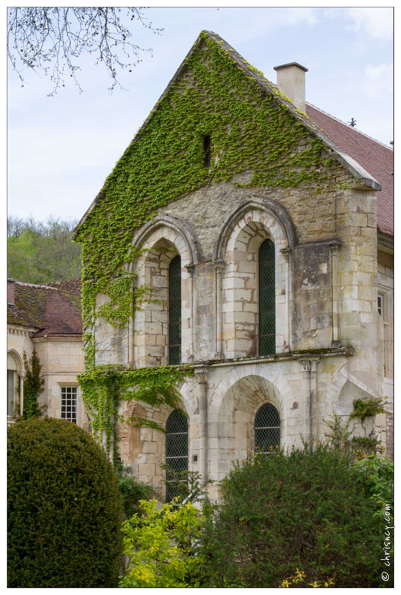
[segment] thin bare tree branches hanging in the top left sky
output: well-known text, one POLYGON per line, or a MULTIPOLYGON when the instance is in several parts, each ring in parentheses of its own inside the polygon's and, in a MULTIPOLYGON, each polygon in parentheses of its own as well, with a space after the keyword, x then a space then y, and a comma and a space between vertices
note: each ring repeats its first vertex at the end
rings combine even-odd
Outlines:
POLYGON ((12 68, 24 86, 24 68, 39 76, 50 75, 52 96, 65 87, 68 74, 77 80, 77 58, 83 52, 94 54, 96 64, 103 62, 108 70, 111 86, 123 89, 118 72, 141 62, 142 52, 132 43, 133 33, 121 22, 121 11, 127 11, 131 21, 137 20, 151 32, 160 35, 163 29, 153 27, 143 15, 144 8, 118 7, 11 7, 7 9, 7 54, 12 68))

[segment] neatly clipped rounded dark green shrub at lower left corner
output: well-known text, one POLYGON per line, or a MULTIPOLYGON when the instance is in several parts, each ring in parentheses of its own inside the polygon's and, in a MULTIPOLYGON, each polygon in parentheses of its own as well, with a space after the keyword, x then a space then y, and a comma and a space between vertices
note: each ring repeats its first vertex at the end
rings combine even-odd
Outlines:
POLYGON ((122 503, 86 431, 31 418, 8 431, 8 586, 116 587, 122 503))

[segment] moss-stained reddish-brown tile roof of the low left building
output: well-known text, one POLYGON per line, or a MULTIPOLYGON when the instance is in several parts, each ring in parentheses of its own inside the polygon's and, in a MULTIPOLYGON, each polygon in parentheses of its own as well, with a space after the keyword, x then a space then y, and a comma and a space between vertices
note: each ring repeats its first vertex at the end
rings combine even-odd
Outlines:
POLYGON ((15 281, 15 303, 7 304, 7 322, 37 328, 35 337, 81 335, 81 281, 53 285, 15 281))

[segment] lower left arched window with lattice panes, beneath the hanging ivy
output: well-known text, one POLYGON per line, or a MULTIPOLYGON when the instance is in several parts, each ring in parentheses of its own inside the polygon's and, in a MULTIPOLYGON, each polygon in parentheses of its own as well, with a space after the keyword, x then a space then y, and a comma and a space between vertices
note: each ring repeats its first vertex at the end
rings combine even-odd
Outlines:
MULTIPOLYGON (((188 421, 180 411, 170 413, 166 424, 166 465, 173 471, 188 469, 188 421)), ((177 483, 166 471, 166 502, 178 496, 177 483)), ((185 481, 185 480, 184 480, 185 481)))

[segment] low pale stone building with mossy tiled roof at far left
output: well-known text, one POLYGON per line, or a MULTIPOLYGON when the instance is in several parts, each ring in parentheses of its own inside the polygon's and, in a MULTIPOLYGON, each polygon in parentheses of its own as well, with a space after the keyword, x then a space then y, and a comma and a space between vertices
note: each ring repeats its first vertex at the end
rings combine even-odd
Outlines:
POLYGON ((23 353, 29 361, 33 349, 45 378, 38 399, 43 415, 87 423, 77 381, 84 369, 80 281, 46 286, 7 279, 8 424, 23 413, 23 353))

